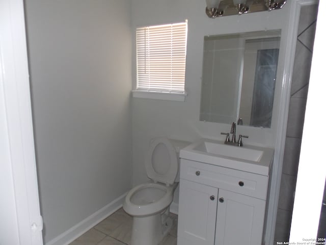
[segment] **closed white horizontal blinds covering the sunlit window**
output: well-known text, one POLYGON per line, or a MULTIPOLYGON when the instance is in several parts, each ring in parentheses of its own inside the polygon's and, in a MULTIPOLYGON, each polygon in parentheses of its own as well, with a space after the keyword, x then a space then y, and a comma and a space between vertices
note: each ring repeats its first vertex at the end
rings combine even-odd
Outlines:
POLYGON ((138 28, 137 90, 184 93, 187 22, 138 28))

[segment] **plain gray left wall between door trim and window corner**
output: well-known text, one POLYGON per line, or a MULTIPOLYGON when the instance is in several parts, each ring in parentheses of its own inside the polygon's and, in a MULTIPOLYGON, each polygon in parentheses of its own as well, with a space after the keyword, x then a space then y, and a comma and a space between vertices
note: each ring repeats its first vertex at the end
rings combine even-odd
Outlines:
POLYGON ((128 0, 25 1, 44 241, 131 179, 128 0))

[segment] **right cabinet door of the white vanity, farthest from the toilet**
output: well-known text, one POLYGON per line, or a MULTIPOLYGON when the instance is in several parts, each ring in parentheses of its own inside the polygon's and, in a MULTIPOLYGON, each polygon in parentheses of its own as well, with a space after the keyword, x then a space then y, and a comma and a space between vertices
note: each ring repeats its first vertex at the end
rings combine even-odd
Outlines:
POLYGON ((260 245, 265 201, 219 190, 215 245, 260 245))

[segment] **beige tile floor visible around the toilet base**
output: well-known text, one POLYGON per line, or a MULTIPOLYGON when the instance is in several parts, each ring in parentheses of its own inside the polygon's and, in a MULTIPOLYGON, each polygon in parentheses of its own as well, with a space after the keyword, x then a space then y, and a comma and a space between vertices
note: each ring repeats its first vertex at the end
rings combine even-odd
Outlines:
MULTIPOLYGON (((171 213, 173 225, 159 245, 177 244, 178 216, 171 213)), ((105 218, 69 245, 130 245, 132 217, 122 208, 105 218)))

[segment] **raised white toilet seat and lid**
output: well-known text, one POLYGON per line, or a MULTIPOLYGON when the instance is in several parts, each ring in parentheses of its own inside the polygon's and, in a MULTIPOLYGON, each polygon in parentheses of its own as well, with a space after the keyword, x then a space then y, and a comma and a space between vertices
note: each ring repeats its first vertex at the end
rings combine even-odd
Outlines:
POLYGON ((172 185, 178 173, 178 158, 172 143, 163 137, 151 141, 145 160, 148 178, 172 185))

